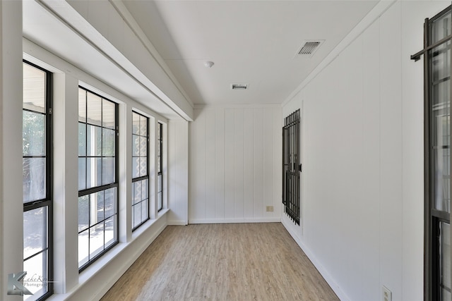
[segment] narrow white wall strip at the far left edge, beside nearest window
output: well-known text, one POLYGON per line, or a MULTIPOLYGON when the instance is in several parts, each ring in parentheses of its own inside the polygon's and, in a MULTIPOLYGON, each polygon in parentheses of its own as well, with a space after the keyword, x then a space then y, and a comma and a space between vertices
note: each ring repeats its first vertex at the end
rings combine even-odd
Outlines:
POLYGON ((22 271, 22 4, 0 1, 0 299, 22 271), (19 252, 18 252, 19 250, 19 252))

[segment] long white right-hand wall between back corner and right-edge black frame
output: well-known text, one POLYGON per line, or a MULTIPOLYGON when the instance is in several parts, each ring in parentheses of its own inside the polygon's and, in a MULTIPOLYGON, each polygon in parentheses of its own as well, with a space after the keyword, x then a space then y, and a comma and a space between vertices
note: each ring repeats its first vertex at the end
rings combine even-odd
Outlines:
MULTIPOLYGON (((424 18, 398 1, 283 107, 302 109, 302 224, 283 223, 341 300, 423 300, 424 18)), ((366 20, 369 22, 369 20, 366 20)))

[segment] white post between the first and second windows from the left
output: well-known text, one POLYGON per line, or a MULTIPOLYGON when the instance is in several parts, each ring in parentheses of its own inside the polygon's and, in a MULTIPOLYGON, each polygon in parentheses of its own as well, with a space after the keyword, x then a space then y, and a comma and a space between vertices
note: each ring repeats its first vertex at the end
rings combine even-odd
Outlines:
POLYGON ((78 79, 54 73, 54 284, 55 293, 66 293, 78 283, 78 253, 69 233, 78 233, 78 79), (69 159, 72 158, 72 159, 69 159), (68 235, 69 234, 69 235, 68 235))

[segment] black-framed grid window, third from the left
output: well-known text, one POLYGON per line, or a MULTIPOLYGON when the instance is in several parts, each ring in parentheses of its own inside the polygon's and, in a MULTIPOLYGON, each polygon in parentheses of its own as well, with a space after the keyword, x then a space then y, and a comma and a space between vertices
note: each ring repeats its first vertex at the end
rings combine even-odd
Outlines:
POLYGON ((132 231, 149 219, 149 118, 132 112, 132 231))

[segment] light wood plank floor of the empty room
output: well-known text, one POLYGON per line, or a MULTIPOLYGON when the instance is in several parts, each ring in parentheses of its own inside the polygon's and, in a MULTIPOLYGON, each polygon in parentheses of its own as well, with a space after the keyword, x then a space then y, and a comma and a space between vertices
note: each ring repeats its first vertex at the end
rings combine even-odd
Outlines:
POLYGON ((102 300, 339 300, 281 223, 168 226, 102 300))

